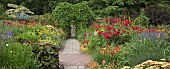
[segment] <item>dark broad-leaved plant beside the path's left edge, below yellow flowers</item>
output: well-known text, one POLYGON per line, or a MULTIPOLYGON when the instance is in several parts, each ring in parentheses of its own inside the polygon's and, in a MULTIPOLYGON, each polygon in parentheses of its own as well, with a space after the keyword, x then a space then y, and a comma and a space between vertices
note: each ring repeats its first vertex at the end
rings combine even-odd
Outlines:
POLYGON ((59 47, 46 45, 33 46, 33 52, 37 55, 40 69, 59 69, 59 47))

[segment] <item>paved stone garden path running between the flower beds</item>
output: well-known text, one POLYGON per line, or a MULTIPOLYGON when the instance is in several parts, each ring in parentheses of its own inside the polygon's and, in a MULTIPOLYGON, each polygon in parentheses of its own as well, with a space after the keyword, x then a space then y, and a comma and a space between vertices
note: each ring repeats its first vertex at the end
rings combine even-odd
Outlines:
POLYGON ((59 52, 60 64, 64 69, 87 69, 86 64, 90 56, 80 52, 80 42, 76 39, 67 39, 64 48, 59 52))

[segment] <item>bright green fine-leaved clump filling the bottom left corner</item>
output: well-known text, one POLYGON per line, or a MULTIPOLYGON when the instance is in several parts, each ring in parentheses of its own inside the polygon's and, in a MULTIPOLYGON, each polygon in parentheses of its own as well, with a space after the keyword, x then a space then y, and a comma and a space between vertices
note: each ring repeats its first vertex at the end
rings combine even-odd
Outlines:
POLYGON ((0 67, 5 69, 38 69, 31 46, 14 42, 0 49, 0 67))

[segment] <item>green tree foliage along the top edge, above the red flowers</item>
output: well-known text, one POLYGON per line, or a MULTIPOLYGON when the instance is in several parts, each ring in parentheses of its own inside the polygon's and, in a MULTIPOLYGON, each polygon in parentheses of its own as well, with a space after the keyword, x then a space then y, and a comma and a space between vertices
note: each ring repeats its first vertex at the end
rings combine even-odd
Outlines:
POLYGON ((122 14, 123 10, 138 11, 147 5, 161 2, 162 0, 89 0, 89 6, 96 16, 108 17, 117 13, 122 14))

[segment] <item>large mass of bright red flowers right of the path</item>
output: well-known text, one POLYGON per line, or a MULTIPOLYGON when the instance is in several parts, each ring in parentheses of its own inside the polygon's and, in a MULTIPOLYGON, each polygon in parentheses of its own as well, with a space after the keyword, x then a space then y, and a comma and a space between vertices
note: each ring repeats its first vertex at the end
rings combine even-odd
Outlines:
MULTIPOLYGON (((106 22, 109 19, 110 18, 106 18, 106 22)), ((119 45, 126 41, 129 41, 134 34, 143 32, 143 29, 139 26, 133 25, 130 18, 121 19, 119 17, 110 19, 110 22, 97 26, 96 31, 99 37, 103 36, 106 39, 111 39, 111 42, 119 42, 117 43, 119 45), (127 40, 124 41, 122 38, 126 38, 127 40)))

